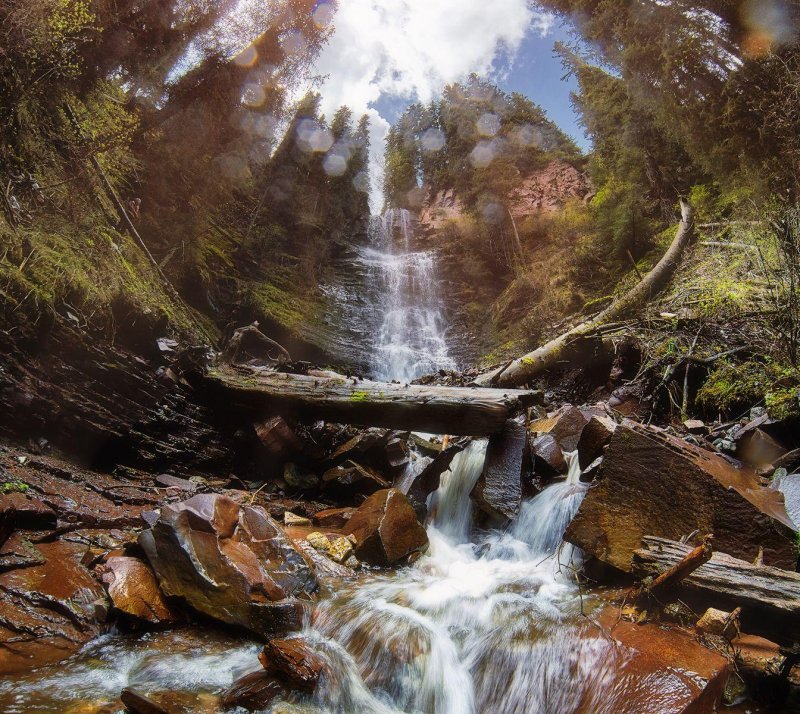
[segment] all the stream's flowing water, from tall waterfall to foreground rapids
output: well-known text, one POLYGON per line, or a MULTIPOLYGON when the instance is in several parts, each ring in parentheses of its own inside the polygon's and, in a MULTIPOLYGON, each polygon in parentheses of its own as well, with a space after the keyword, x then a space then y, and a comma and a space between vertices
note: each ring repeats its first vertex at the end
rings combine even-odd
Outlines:
MULTIPOLYGON (((375 376, 409 380, 452 367, 435 257, 411 250, 408 213, 376 223, 361 259, 379 296, 375 376)), ((562 546, 585 489, 577 457, 568 455, 567 479, 527 500, 512 527, 479 531, 470 491, 485 450, 476 441, 456 456, 431 495, 425 556, 337 583, 317 605, 303 634, 328 674, 302 711, 615 711, 607 690, 617 655, 581 616, 579 554, 562 546)), ((0 710, 113 711, 103 707, 134 686, 215 711, 215 695, 258 669, 256 653, 253 643, 208 632, 108 635, 65 663, 0 683, 0 710)))

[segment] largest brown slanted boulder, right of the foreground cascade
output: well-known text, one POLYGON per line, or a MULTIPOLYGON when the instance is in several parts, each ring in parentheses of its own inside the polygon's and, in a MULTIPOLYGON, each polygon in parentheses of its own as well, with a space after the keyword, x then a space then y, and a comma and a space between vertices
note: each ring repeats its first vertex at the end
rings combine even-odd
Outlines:
POLYGON ((714 550, 794 569, 795 533, 781 495, 755 473, 633 422, 617 427, 597 477, 565 539, 588 555, 631 571, 644 535, 680 540, 714 534, 714 550))

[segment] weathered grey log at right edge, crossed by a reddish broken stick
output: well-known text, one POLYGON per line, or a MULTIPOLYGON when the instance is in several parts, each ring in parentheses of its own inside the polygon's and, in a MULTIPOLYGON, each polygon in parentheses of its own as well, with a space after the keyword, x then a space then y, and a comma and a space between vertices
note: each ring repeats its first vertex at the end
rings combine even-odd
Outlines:
MULTIPOLYGON (((642 543, 643 547, 633 554, 633 573, 638 577, 672 567, 692 551, 689 546, 654 536, 645 536, 642 543)), ((691 590, 733 599, 744 607, 800 617, 800 573, 790 570, 753 565, 725 553, 714 553, 681 584, 691 590)))

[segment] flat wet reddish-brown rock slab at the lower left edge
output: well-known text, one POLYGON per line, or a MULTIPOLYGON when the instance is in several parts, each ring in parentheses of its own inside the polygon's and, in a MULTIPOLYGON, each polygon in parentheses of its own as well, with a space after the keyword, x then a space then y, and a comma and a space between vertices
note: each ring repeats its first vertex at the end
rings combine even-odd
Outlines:
POLYGON ((105 593, 81 564, 86 546, 54 541, 35 551, 38 562, 0 573, 0 674, 57 662, 100 634, 92 603, 105 593))

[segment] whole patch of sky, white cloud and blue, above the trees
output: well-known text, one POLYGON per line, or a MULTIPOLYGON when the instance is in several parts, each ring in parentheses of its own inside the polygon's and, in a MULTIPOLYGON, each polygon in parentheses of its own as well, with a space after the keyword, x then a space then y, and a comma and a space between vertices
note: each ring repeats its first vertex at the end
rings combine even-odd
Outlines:
POLYGON ((570 106, 574 82, 561 80, 553 57, 567 29, 530 0, 339 0, 330 21, 315 68, 324 77, 322 111, 332 116, 345 104, 370 115, 373 196, 389 125, 409 103, 428 102, 471 72, 527 95, 587 146, 570 106))

